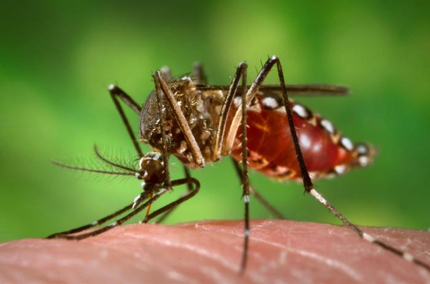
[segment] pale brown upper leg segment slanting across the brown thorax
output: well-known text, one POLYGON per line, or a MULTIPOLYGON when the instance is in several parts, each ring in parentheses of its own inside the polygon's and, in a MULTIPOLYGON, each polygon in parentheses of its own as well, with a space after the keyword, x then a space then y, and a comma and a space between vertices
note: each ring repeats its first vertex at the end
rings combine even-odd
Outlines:
MULTIPOLYGON (((160 71, 155 72, 153 76, 155 80, 158 101, 161 102, 161 94, 160 94, 160 89, 161 89, 164 93, 164 98, 166 98, 166 100, 169 102, 169 105, 173 111, 173 114, 175 115, 176 120, 178 121, 178 124, 179 124, 179 127, 181 128, 182 133, 184 133, 185 140, 187 140, 187 144, 190 147, 190 150, 191 150, 191 153, 193 154, 195 162, 197 163, 197 165, 203 168, 205 166, 205 159, 203 158, 199 145, 197 144, 196 139, 194 138, 194 135, 191 132, 187 119, 185 119, 184 113, 182 113, 181 108, 178 106, 178 102, 176 101, 166 81, 162 78, 160 71)), ((163 113, 161 112, 161 110, 162 109, 160 109, 160 121, 161 121, 161 117, 163 116, 163 113)), ((165 135, 163 135, 163 137, 165 137, 165 135)), ((166 165, 164 166, 166 167, 166 165)))

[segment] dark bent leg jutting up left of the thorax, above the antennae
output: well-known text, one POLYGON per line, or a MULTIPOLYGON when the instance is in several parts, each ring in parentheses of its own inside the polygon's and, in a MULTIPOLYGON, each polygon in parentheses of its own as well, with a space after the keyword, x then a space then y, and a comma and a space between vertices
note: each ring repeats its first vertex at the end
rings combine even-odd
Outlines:
POLYGON ((117 107, 118 113, 120 113, 121 119, 123 120, 124 125, 127 128, 127 132, 133 142, 133 146, 135 147, 139 158, 143 157, 143 152, 138 144, 138 141, 133 133, 132 127, 130 125, 129 120, 127 119, 126 114, 124 113, 123 107, 121 107, 120 102, 117 98, 120 98, 123 102, 125 102, 129 107, 132 108, 137 114, 140 114, 141 107, 122 89, 115 85, 109 86, 109 92, 111 94, 112 100, 114 101, 115 107, 117 107))

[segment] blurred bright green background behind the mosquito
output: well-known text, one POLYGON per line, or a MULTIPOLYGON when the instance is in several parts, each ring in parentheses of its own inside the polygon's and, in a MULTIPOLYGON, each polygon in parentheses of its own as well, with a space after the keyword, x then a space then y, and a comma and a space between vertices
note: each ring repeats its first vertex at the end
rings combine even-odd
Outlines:
MULTIPOLYGON (((37 2, 3 3, 0 12, 1 241, 83 225, 141 192, 134 178, 50 163, 91 159, 93 143, 114 155, 132 153, 109 84, 143 103, 153 89, 151 72, 163 65, 181 75, 201 61, 212 84, 228 84, 246 60, 250 82, 260 60, 273 54, 287 82, 350 86, 349 97, 301 102, 353 140, 379 148, 372 167, 318 181, 326 198, 360 225, 430 226, 428 1, 37 2)), ((276 75, 267 82, 275 83, 276 75)), ((127 113, 137 132, 137 116, 127 113)), ((171 162, 173 177, 180 177, 180 164, 171 162)), ((243 217, 229 159, 193 175, 201 192, 167 223, 243 217)), ((301 185, 255 173, 251 179, 289 218, 339 223, 301 185)), ((251 202, 252 218, 270 217, 251 202)))

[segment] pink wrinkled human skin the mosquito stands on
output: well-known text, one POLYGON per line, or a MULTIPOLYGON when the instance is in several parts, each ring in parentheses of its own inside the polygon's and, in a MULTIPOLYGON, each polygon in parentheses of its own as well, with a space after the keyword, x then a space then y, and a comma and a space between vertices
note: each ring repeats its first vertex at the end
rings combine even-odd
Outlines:
MULTIPOLYGON (((240 276, 242 221, 128 225, 82 241, 0 244, 0 283, 429 283, 427 270, 342 226, 252 220, 240 276)), ((430 263, 430 233, 363 228, 430 263)))

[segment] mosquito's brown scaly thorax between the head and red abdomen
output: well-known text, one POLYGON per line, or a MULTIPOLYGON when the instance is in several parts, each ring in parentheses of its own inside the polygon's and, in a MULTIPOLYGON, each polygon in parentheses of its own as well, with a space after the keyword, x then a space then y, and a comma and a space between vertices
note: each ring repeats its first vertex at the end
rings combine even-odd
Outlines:
MULTIPOLYGON (((196 83, 188 77, 169 82, 168 85, 187 119, 206 164, 213 162, 212 150, 225 92, 197 90, 196 83)), ((197 168, 169 102, 162 91, 160 91, 160 95, 165 116, 167 153, 178 157, 184 165, 197 168)), ((141 140, 147 141, 155 151, 162 152, 160 115, 155 90, 151 92, 142 107, 139 125, 141 140)))

